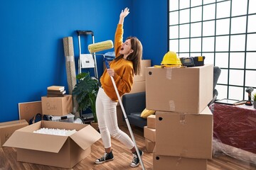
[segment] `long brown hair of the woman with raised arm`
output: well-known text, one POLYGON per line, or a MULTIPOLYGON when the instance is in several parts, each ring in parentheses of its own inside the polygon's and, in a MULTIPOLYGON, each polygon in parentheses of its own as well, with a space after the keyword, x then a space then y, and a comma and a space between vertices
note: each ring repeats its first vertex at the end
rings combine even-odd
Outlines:
MULTIPOLYGON (((134 74, 139 75, 142 72, 141 68, 141 60, 142 60, 142 42, 139 41, 136 37, 128 37, 126 40, 131 40, 132 50, 133 52, 129 54, 126 60, 132 61, 134 67, 134 74)), ((124 55, 119 55, 114 60, 120 60, 124 57, 124 55)))

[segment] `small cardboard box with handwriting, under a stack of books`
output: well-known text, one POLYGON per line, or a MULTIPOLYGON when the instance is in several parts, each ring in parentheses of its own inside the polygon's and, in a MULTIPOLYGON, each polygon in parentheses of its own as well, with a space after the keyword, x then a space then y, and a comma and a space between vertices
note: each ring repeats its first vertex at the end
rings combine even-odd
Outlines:
POLYGON ((41 99, 43 115, 68 115, 73 111, 72 95, 65 95, 64 97, 43 96, 41 99))

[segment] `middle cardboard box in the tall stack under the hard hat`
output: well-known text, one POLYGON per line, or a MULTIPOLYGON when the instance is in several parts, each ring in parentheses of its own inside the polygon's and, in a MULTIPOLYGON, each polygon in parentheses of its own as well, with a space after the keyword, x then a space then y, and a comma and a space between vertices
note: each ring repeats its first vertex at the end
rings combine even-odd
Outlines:
POLYGON ((211 159, 213 114, 156 112, 156 154, 211 159))

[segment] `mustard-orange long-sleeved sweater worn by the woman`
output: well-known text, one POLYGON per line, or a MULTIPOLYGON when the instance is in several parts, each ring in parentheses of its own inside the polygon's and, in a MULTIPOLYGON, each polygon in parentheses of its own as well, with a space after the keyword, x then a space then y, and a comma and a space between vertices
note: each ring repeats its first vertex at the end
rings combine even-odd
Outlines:
MULTIPOLYGON (((119 50, 122 47, 123 42, 123 25, 118 24, 117 30, 114 36, 114 53, 115 56, 119 56, 119 50)), ((114 69, 114 82, 117 86, 119 96, 125 93, 129 93, 132 90, 132 84, 134 81, 134 69, 132 62, 129 60, 113 60, 110 62, 110 68, 114 69)), ((102 88, 104 89, 107 96, 109 96, 113 101, 118 101, 117 94, 114 91, 114 86, 112 84, 110 75, 107 73, 107 69, 102 74, 100 78, 102 88)))

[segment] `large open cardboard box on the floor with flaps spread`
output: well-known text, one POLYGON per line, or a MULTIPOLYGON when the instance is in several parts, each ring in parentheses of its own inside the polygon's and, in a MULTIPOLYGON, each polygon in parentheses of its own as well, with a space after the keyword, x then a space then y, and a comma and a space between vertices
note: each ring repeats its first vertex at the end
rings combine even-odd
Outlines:
POLYGON ((91 152, 100 134, 90 125, 40 121, 16 130, 4 144, 15 147, 17 161, 71 169, 91 152), (73 135, 59 136, 34 133, 41 128, 76 130, 73 135))

